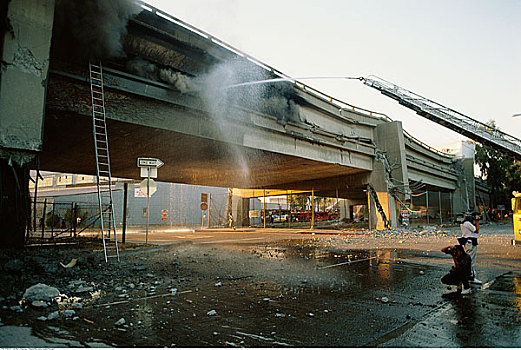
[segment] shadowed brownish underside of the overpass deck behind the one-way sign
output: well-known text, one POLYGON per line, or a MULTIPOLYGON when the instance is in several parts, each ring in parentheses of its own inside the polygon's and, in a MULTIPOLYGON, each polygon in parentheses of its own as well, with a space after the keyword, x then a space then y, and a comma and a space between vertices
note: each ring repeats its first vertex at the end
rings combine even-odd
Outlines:
MULTIPOLYGON (((41 169, 95 175, 91 128, 90 117, 48 109, 41 169)), ((219 187, 309 189, 314 180, 327 190, 327 179, 367 172, 114 120, 108 132, 112 174, 122 178, 140 178, 143 156, 165 163, 158 180, 219 187)))

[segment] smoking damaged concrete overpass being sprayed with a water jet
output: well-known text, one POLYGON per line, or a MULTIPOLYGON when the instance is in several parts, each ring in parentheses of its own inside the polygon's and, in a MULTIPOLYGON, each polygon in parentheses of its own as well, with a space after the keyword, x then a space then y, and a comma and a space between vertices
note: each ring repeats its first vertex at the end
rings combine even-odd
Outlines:
MULTIPOLYGON (((31 40, 2 33, 7 64, 0 85, 0 156, 6 176, 13 163, 18 178, 37 165, 95 174, 87 76, 92 52, 71 49, 59 4, 54 12, 53 0, 13 0, 4 8, 19 33, 32 32, 35 24, 42 28, 31 40)), ((455 197, 469 191, 462 187, 469 165, 423 145, 400 122, 281 81, 282 73, 148 5, 126 20, 124 55, 97 56, 105 67, 116 177, 139 178, 136 158, 149 156, 165 162, 161 181, 314 189, 359 203, 368 203, 364 190, 371 185, 394 225, 396 200, 409 197, 411 183, 455 197), (269 79, 278 80, 248 84, 269 79)), ((4 179, 3 186, 16 182, 4 179)), ((375 225, 374 201, 369 205, 375 225)))

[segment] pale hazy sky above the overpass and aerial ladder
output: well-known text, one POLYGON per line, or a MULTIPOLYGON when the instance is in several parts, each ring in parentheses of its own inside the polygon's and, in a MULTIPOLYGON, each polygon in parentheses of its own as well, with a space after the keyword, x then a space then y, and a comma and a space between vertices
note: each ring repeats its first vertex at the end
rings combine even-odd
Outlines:
MULTIPOLYGON (((521 0, 146 0, 292 77, 376 75, 521 138, 521 0)), ((302 81, 440 148, 466 137, 358 80, 302 81)))

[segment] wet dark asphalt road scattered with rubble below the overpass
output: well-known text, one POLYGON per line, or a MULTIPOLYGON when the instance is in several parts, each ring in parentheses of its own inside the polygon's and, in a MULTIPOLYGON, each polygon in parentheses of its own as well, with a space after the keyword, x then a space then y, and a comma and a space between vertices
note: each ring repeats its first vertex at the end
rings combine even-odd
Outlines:
MULTIPOLYGON (((439 282, 451 265, 442 253, 325 249, 315 236, 295 233, 151 232, 149 242, 165 243, 165 254, 194 246, 196 267, 170 281, 156 274, 162 283, 152 296, 135 291, 123 302, 87 305, 84 318, 95 325, 36 324, 33 335, 47 346, 521 346, 520 270, 482 268, 483 288, 460 296, 439 282), (246 254, 231 256, 232 264, 245 264, 241 274, 223 273, 226 258, 212 256, 212 247, 246 254), (194 273, 201 264, 210 265, 208 275, 194 273), (175 297, 168 293, 173 283, 175 297), (120 317, 126 327, 113 328, 120 317)), ((127 241, 143 238, 130 233, 127 241)), ((104 300, 119 300, 112 298, 107 292, 104 300)), ((0 327, 0 345, 27 345, 6 342, 14 337, 7 328, 0 327)))

